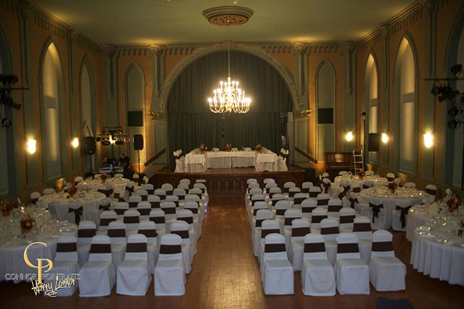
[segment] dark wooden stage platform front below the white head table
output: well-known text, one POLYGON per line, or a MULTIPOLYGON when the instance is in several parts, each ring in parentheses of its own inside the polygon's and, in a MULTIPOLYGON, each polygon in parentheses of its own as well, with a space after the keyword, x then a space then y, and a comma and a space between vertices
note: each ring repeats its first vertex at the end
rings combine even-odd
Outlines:
POLYGON ((205 179, 208 191, 215 193, 238 193, 244 192, 247 188, 247 179, 256 178, 262 185, 265 178, 274 178, 279 187, 287 181, 296 183, 301 187, 303 183, 304 170, 290 166, 288 171, 256 171, 254 167, 240 167, 232 169, 207 169, 204 173, 174 173, 174 169, 163 167, 155 172, 150 178, 150 182, 155 187, 161 187, 163 183, 170 183, 177 187, 179 180, 188 178, 195 182, 197 179, 205 179))

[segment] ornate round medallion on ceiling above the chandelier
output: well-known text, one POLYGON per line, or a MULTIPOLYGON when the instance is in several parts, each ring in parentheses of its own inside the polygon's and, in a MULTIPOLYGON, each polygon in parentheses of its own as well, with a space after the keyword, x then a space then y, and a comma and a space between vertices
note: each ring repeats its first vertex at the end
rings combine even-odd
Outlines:
POLYGON ((203 16, 215 26, 239 26, 253 14, 253 10, 242 6, 217 6, 203 11, 203 16))

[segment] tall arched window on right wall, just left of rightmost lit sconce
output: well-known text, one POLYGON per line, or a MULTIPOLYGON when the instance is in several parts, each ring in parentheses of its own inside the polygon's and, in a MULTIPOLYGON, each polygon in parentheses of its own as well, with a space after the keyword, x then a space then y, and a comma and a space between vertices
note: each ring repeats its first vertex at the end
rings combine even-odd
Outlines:
POLYGON ((395 122, 399 140, 397 168, 416 174, 416 64, 409 40, 404 37, 395 62, 395 122))

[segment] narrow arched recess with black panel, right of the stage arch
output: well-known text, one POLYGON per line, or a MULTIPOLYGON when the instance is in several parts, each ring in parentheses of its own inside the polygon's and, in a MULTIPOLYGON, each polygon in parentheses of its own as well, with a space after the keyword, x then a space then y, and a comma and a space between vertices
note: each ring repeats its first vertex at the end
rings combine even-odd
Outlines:
POLYGON ((323 60, 316 69, 317 160, 335 151, 335 73, 330 62, 323 60))

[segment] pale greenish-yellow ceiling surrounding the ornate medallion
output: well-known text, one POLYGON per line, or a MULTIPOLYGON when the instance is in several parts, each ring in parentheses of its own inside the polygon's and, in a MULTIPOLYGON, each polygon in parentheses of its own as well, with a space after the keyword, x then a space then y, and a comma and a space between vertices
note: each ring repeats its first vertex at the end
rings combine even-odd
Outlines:
MULTIPOLYGON (((231 27, 238 41, 357 40, 412 0, 238 0, 254 11, 247 24, 231 27)), ((202 12, 233 6, 233 0, 35 0, 69 26, 100 44, 222 41, 226 27, 202 12)))

